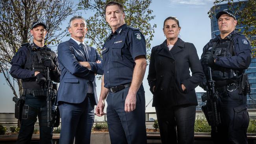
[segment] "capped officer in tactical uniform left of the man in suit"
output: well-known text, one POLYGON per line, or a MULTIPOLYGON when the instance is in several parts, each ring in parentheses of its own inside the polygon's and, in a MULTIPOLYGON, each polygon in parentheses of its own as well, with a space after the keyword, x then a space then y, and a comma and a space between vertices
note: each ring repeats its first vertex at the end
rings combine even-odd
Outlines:
MULTIPOLYGON (((53 122, 48 127, 46 93, 47 93, 47 69, 50 70, 50 78, 59 82, 60 70, 57 55, 46 45, 46 25, 44 22, 33 22, 30 33, 33 35, 33 43, 22 44, 11 61, 11 76, 22 80, 24 100, 22 112, 20 112, 20 132, 17 144, 29 144, 32 138, 37 116, 40 126, 40 143, 52 144, 53 122)), ((22 105, 21 105, 22 107, 22 105)), ((54 113, 54 99, 52 100, 52 114, 54 113)))

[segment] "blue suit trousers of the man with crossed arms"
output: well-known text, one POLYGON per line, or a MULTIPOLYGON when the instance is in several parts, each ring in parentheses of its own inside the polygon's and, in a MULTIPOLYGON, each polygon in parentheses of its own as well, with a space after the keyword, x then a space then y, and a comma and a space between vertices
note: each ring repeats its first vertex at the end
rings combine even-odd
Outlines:
MULTIPOLYGON (((93 96, 93 94, 92 94, 93 96)), ((88 94, 82 103, 59 102, 61 134, 59 144, 90 144, 94 104, 88 94)))

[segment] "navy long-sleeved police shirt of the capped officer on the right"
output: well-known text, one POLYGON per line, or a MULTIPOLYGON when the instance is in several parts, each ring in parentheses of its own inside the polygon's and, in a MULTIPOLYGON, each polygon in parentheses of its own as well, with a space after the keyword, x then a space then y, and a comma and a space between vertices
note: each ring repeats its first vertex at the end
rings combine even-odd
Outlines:
MULTIPOLYGON (((232 31, 230 34, 234 35, 236 31, 232 31)), ((220 35, 217 35, 215 39, 218 39, 218 43, 221 41, 228 41, 228 36, 221 39, 220 35)), ((235 55, 229 55, 225 57, 216 57, 215 65, 222 66, 230 69, 246 69, 251 62, 251 46, 249 40, 243 34, 237 34, 234 36, 234 51, 235 55)), ((207 51, 210 42, 204 46, 204 52, 207 51)))

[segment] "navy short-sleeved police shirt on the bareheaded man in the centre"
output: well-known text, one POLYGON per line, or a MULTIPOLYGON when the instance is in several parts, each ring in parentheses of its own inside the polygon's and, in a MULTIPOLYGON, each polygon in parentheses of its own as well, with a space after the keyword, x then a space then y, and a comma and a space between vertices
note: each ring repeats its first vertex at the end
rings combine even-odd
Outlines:
POLYGON ((104 87, 131 83, 134 60, 139 55, 146 57, 146 42, 138 29, 124 24, 112 31, 102 48, 104 87))

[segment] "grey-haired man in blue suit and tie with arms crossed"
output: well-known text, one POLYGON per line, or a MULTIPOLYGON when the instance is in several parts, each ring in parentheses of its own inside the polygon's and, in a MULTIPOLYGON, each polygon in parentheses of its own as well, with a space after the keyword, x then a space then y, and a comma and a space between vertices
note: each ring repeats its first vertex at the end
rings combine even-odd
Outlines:
POLYGON ((58 46, 61 78, 57 105, 61 115, 60 144, 89 144, 94 122, 94 105, 98 103, 95 74, 103 74, 97 50, 84 44, 85 19, 70 19, 71 39, 58 46))

